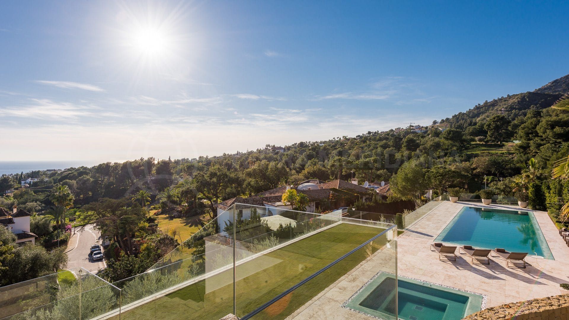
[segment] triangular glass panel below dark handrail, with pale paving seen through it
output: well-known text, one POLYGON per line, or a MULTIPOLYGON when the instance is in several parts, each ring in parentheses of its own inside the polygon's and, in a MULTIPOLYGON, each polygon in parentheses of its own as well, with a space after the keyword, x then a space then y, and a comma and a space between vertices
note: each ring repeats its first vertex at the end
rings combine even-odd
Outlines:
MULTIPOLYGON (((361 225, 360 228, 365 226, 361 225)), ((271 303, 251 319, 284 319, 291 314, 304 314, 304 317, 310 318, 311 314, 316 313, 350 318, 354 311, 340 305, 350 300, 370 278, 384 272, 395 279, 396 237, 397 228, 394 227, 271 303), (307 303, 309 301, 310 303, 307 303)), ((354 248, 357 248, 357 245, 354 248)), ((384 319, 395 320, 397 317, 394 312, 397 309, 396 291, 395 281, 392 281, 384 285, 382 292, 376 293, 375 300, 381 300, 381 307, 386 309, 382 315, 384 319)))

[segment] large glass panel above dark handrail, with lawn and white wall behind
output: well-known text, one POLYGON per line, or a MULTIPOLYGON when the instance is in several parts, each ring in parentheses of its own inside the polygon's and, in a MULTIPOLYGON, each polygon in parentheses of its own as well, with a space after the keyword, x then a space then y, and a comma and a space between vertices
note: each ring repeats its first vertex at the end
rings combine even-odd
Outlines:
MULTIPOLYGON (((391 227, 391 224, 346 219, 340 215, 239 204, 237 208, 242 210, 236 217, 239 221, 236 229, 238 317, 269 302, 391 227)), ((341 275, 347 271, 343 270, 341 275)), ((328 285, 341 275, 329 276, 328 285)), ((294 306, 299 307, 298 303, 294 306)))

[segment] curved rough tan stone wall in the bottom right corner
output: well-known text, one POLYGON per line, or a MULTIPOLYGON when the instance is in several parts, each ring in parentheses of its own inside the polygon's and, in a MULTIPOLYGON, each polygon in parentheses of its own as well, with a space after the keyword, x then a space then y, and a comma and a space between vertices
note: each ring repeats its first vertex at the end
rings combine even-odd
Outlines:
POLYGON ((568 320, 569 294, 489 307, 464 318, 475 319, 568 320))

